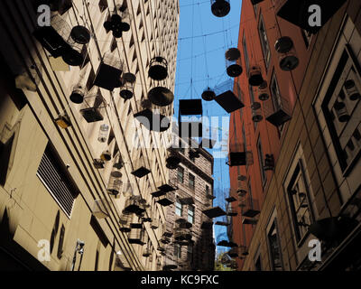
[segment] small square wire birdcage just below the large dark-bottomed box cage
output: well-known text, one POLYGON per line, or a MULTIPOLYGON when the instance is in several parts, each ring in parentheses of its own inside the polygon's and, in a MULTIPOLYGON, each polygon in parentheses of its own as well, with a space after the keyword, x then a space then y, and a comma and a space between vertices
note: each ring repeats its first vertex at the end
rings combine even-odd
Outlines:
POLYGON ((88 93, 84 98, 80 108, 80 114, 87 120, 88 123, 102 121, 103 114, 106 110, 106 102, 100 92, 97 90, 93 93, 88 93))

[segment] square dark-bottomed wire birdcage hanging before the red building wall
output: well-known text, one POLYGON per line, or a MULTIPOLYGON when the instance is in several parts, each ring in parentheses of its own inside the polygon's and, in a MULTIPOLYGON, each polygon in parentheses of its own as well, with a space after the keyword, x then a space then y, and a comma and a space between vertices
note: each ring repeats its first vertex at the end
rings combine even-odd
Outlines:
POLYGON ((273 98, 264 101, 264 116, 273 126, 282 126, 292 118, 292 107, 289 100, 276 94, 273 98))

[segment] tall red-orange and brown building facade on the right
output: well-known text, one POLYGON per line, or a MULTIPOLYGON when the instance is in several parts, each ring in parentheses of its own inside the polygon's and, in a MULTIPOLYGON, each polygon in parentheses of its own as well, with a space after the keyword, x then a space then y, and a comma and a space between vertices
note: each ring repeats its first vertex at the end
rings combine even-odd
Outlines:
POLYGON ((245 107, 231 117, 230 144, 245 144, 253 163, 230 168, 236 262, 245 271, 359 270, 360 4, 322 7, 322 26, 310 31, 290 2, 242 5, 245 107), (292 45, 281 51, 285 37, 292 45), (249 86, 253 67, 266 85, 249 86))

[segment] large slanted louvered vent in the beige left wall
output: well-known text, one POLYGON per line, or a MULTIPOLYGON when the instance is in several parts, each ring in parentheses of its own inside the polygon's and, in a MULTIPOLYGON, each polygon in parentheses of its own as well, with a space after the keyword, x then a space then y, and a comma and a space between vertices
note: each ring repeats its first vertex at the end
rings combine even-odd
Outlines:
POLYGON ((36 175, 42 181, 52 197, 58 202, 60 208, 70 217, 74 205, 74 194, 71 193, 69 178, 62 172, 59 161, 51 154, 48 146, 42 155, 42 162, 39 165, 36 175))

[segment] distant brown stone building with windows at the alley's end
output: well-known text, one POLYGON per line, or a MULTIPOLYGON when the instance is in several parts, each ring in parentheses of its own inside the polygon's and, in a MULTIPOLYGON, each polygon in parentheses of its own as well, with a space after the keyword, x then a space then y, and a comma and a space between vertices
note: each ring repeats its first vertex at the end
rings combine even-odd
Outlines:
POLYGON ((213 222, 203 210, 213 203, 213 156, 195 141, 185 143, 175 132, 174 154, 177 168, 170 171, 175 191, 166 212, 168 238, 163 238, 166 252, 164 269, 176 271, 211 271, 214 269, 215 244, 213 222))

